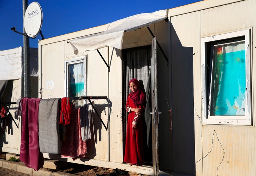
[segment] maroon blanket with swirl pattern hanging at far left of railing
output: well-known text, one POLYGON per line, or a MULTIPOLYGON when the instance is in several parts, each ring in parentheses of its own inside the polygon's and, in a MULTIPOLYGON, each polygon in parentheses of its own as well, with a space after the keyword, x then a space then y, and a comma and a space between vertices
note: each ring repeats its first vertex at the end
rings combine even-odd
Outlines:
POLYGON ((38 171, 43 167, 43 153, 39 149, 38 110, 40 98, 22 98, 22 130, 20 160, 38 171))

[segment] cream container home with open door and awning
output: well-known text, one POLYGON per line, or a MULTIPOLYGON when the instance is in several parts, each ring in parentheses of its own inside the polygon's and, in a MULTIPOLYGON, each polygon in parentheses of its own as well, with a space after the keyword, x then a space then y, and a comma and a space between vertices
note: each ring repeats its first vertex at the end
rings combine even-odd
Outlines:
POLYGON ((39 41, 38 97, 76 97, 76 107, 92 97, 96 108, 86 158, 44 158, 156 176, 254 176, 255 10, 255 0, 206 0, 39 41), (147 96, 142 166, 123 162, 133 77, 147 96))

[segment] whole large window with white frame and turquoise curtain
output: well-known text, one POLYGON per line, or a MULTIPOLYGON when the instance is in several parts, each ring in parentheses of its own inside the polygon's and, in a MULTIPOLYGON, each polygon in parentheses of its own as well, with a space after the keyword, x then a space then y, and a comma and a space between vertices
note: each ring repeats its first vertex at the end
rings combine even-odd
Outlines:
POLYGON ((252 125, 250 29, 201 39, 203 124, 252 125))

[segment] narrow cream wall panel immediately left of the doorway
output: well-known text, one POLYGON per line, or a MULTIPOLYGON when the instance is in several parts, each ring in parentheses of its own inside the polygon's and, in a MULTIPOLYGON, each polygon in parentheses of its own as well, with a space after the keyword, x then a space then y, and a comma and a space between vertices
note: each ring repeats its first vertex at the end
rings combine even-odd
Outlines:
POLYGON ((121 50, 116 51, 110 47, 109 63, 111 71, 109 72, 109 99, 112 107, 110 111, 110 161, 123 163, 123 117, 122 117, 122 60, 121 50))

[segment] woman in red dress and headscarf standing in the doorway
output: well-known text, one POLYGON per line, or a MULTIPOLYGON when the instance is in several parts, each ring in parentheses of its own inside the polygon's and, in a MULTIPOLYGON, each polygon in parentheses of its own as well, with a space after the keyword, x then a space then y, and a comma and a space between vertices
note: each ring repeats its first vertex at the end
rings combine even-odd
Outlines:
POLYGON ((129 113, 126 132, 126 147, 124 162, 132 165, 143 165, 143 118, 146 105, 146 95, 140 89, 139 81, 135 78, 129 81, 132 91, 126 101, 126 110, 129 113))

